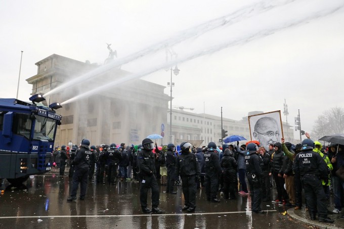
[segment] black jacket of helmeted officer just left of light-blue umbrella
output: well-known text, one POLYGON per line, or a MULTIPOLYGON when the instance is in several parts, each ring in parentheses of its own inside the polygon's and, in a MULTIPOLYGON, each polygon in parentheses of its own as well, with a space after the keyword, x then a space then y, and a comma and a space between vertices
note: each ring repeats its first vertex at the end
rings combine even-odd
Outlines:
POLYGON ((155 156, 151 150, 142 149, 137 156, 138 167, 142 175, 152 175, 155 172, 155 156))

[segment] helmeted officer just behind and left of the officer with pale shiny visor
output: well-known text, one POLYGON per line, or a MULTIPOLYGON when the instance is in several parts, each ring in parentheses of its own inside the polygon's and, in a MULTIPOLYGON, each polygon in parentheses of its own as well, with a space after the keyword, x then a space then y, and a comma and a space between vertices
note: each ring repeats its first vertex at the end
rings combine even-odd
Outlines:
POLYGON ((166 167, 167 167, 167 181, 166 181, 166 193, 177 194, 174 191, 176 181, 176 146, 173 143, 167 145, 166 152, 166 167))

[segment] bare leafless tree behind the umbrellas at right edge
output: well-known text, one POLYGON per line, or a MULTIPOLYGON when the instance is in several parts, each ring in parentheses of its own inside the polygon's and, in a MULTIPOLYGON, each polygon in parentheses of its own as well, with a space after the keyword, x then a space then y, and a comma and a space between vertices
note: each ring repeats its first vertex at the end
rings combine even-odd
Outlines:
POLYGON ((334 107, 319 115, 313 126, 312 135, 321 138, 324 135, 342 134, 344 132, 344 110, 334 107))

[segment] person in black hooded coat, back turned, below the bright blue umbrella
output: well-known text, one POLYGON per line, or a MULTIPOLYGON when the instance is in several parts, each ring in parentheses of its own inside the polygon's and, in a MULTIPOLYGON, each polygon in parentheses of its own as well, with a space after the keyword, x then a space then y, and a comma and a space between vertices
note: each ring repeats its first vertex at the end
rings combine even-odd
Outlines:
POLYGON ((236 199, 235 193, 238 191, 237 163, 234 159, 233 152, 225 149, 224 156, 221 160, 221 168, 224 178, 224 199, 236 199))

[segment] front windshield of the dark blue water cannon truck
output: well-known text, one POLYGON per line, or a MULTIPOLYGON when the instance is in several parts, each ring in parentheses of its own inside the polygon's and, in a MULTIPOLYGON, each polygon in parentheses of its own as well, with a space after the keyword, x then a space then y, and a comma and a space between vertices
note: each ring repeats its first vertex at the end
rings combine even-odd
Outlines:
POLYGON ((37 116, 35 119, 33 140, 54 141, 54 133, 56 128, 56 120, 37 116))

